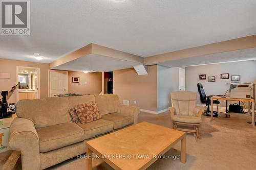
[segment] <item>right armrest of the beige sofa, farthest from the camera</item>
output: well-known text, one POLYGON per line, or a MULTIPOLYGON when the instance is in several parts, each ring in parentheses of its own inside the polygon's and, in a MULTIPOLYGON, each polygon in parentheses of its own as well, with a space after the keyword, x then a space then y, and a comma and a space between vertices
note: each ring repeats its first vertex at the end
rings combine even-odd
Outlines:
POLYGON ((136 106, 126 106, 126 105, 120 104, 117 108, 117 113, 133 116, 134 124, 137 124, 138 116, 140 114, 140 108, 136 106))

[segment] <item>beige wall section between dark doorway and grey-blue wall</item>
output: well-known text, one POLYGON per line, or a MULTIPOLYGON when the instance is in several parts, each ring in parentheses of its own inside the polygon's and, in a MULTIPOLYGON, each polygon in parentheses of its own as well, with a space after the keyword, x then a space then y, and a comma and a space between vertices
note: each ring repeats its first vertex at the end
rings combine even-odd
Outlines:
POLYGON ((129 100, 131 106, 157 111, 157 65, 147 68, 148 75, 141 76, 133 68, 113 71, 114 93, 121 103, 129 100))

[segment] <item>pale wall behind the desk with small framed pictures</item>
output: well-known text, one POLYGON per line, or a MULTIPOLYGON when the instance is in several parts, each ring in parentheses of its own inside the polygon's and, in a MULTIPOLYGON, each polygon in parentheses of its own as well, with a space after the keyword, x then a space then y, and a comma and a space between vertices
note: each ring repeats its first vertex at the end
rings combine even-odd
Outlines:
MULTIPOLYGON (((223 95, 229 89, 231 75, 241 75, 241 82, 256 83, 256 60, 186 67, 186 90, 198 93, 197 83, 202 83, 206 95, 223 95), (220 79, 220 74, 229 73, 229 79, 220 79), (216 76, 216 82, 199 80, 199 75, 216 76)), ((198 104, 200 104, 198 93, 198 104)), ((231 103, 231 102, 229 102, 231 103)), ((221 106, 225 106, 221 101, 221 106)))

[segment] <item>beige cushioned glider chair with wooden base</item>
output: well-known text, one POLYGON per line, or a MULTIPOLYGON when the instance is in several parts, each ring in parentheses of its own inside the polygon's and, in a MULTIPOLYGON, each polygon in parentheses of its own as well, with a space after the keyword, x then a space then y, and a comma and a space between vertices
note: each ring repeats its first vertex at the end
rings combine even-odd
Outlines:
POLYGON ((170 93, 172 107, 169 107, 173 128, 194 134, 200 138, 201 115, 203 109, 197 107, 197 93, 175 91, 170 93))

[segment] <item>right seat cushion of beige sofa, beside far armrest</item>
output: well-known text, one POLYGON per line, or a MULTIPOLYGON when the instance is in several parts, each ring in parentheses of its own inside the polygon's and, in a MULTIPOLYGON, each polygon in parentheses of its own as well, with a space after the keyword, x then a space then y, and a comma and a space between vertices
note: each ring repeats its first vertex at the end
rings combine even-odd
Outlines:
POLYGON ((134 117, 130 115, 123 115, 120 113, 111 113, 102 115, 102 118, 114 123, 114 129, 119 129, 127 125, 131 125, 134 122, 134 117))

